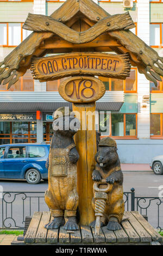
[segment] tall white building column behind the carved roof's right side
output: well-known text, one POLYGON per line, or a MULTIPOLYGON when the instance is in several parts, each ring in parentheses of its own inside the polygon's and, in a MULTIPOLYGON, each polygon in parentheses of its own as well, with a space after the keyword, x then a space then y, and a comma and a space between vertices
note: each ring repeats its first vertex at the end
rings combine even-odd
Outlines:
MULTIPOLYGON (((149 45, 149 0, 137 0, 137 36, 149 45)), ((138 138, 150 137, 150 105, 142 108, 143 95, 150 95, 149 81, 145 75, 137 75, 138 138)))

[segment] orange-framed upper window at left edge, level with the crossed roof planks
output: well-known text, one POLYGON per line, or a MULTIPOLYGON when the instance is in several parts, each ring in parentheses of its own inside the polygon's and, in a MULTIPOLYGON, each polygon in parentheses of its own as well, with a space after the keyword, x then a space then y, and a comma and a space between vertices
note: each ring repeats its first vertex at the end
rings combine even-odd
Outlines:
POLYGON ((16 47, 33 31, 22 28, 23 23, 0 23, 0 45, 16 47))

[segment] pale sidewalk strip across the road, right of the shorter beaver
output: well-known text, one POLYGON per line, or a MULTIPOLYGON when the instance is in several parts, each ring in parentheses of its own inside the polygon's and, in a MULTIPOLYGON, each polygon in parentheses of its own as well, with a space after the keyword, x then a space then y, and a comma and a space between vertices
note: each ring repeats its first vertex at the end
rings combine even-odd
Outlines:
POLYGON ((122 171, 153 172, 148 163, 121 163, 122 171))

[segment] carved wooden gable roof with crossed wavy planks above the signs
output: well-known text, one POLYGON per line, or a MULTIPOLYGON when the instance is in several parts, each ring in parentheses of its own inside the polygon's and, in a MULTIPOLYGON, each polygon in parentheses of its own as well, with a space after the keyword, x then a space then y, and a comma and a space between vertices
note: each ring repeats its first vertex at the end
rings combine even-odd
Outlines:
POLYGON ((30 68, 33 56, 61 53, 65 48, 66 52, 84 51, 84 47, 92 51, 94 47, 93 51, 129 52, 131 64, 157 86, 157 80, 163 76, 163 58, 129 31, 133 26, 128 13, 111 16, 92 0, 67 0, 50 17, 29 14, 24 28, 35 32, 0 62, 0 83, 9 83, 10 88, 30 68), (77 32, 74 24, 79 19, 89 29, 83 31, 83 27, 77 32), (125 26, 123 19, 127 21, 125 26))

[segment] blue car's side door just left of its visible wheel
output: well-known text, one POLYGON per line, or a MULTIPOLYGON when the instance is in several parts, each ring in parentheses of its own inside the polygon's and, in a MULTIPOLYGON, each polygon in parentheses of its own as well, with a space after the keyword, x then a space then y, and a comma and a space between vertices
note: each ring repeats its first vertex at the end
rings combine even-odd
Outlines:
POLYGON ((22 169, 27 164, 26 146, 11 146, 8 148, 4 161, 4 176, 6 179, 22 179, 22 169))

